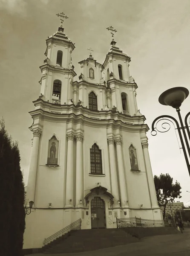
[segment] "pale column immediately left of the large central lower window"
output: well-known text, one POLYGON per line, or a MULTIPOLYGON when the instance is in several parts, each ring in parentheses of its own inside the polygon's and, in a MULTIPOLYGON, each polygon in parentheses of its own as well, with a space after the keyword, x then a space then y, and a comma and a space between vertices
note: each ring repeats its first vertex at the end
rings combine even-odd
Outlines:
POLYGON ((77 141, 76 152, 76 207, 83 207, 83 135, 75 136, 77 141), (82 202, 80 203, 80 201, 82 202))

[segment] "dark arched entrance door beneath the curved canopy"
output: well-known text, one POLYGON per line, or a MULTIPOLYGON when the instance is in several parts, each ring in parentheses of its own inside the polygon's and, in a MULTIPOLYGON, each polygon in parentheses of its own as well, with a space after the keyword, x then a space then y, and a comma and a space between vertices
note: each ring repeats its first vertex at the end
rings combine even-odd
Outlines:
POLYGON ((91 227, 106 228, 105 204, 100 197, 91 201, 91 227))

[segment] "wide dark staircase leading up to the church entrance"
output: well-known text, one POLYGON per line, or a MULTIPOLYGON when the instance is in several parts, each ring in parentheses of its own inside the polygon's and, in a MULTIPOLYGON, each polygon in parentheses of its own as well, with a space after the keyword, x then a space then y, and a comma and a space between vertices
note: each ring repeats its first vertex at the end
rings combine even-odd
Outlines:
POLYGON ((49 253, 77 253, 98 250, 139 241, 122 229, 72 230, 67 236, 44 251, 49 253))

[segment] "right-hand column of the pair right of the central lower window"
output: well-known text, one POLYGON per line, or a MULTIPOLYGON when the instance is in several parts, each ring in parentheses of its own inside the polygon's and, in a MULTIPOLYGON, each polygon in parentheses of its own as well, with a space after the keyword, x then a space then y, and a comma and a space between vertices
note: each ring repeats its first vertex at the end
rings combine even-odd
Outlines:
POLYGON ((125 173, 124 173, 124 162, 123 162, 123 154, 121 148, 122 140, 118 138, 115 140, 116 151, 117 151, 117 160, 118 160, 118 176, 119 176, 119 186, 120 186, 120 200, 121 207, 128 208, 128 199, 127 199, 127 186, 125 181, 125 173))

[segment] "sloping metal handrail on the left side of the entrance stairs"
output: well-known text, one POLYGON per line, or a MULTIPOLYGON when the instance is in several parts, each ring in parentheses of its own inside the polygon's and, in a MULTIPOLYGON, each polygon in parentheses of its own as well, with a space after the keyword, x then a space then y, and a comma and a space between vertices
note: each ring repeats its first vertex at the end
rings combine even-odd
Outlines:
POLYGON ((59 230, 57 233, 53 234, 52 236, 49 236, 48 238, 45 238, 43 240, 43 245, 45 246, 45 245, 51 243, 52 241, 54 241, 57 238, 63 236, 64 234, 68 233, 71 230, 81 229, 81 223, 82 223, 82 220, 80 218, 77 221, 71 223, 70 225, 64 227, 62 230, 59 230))

